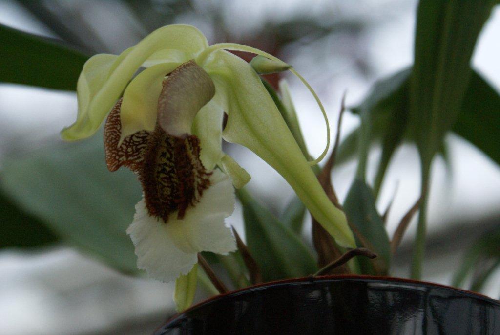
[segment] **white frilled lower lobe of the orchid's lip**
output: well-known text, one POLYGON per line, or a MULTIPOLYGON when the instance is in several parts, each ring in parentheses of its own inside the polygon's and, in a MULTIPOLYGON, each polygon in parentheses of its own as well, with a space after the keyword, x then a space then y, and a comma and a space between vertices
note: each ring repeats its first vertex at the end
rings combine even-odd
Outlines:
POLYGON ((182 219, 174 212, 164 223, 149 215, 141 199, 127 229, 135 247, 137 267, 152 278, 168 282, 187 274, 196 263, 198 252, 227 254, 236 250, 231 229, 224 223, 234 210, 234 202, 231 181, 219 170, 213 171, 210 187, 182 219))

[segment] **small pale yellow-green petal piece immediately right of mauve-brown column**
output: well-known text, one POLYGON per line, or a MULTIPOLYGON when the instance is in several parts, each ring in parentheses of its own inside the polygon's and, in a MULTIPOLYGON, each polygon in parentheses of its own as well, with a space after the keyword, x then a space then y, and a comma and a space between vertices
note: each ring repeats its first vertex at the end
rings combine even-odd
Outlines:
POLYGON ((212 99, 194 117, 191 133, 199 138, 199 158, 207 170, 213 170, 222 158, 222 108, 212 99))

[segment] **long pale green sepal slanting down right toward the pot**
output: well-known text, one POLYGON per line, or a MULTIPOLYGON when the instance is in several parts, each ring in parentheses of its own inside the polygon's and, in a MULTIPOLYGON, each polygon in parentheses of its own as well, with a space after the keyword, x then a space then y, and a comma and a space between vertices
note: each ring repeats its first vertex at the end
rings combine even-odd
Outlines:
POLYGON ((212 77, 216 92, 222 91, 227 97, 228 119, 223 138, 247 147, 266 161, 286 179, 339 244, 354 247, 344 213, 329 201, 250 65, 228 52, 218 51, 204 68, 212 77))

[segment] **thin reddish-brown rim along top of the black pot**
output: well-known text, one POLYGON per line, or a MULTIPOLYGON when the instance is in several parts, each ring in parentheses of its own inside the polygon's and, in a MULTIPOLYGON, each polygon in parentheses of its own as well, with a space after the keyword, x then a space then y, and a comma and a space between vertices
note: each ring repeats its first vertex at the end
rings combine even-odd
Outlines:
POLYGON ((200 302, 197 302, 197 303, 193 304, 189 308, 187 308, 187 309, 185 309, 185 310, 183 310, 183 311, 181 311, 179 313, 175 313, 173 316, 169 317, 166 320, 166 322, 162 323, 158 327, 158 329, 161 326, 163 326, 165 323, 169 323, 172 320, 174 320, 175 318, 179 317, 181 314, 189 312, 191 309, 198 308, 201 305, 204 305, 206 303, 212 302, 214 300, 218 300, 218 299, 227 297, 229 295, 237 295, 237 294, 240 294, 240 293, 245 292, 245 291, 250 291, 250 290, 253 290, 253 289, 256 289, 256 288, 265 287, 265 286, 274 286, 276 284, 287 284, 287 283, 293 283, 293 282, 316 282, 316 281, 326 281, 326 280, 331 280, 331 279, 337 279, 337 280, 341 280, 341 279, 347 279, 347 280, 352 280, 352 279, 361 279, 361 280, 371 279, 371 280, 380 280, 380 281, 386 281, 386 282, 390 281, 390 282, 400 282, 400 283, 430 285, 430 286, 435 286, 435 287, 440 287, 440 288, 445 288, 445 289, 451 289, 451 290, 454 290, 454 291, 459 291, 459 292, 465 293, 467 295, 473 295, 475 297, 487 300, 487 301, 489 301, 491 303, 494 303, 494 304, 497 304, 497 305, 500 306, 500 300, 493 299, 493 298, 491 298, 489 296, 486 296, 484 294, 473 292, 473 291, 469 291, 469 290, 462 289, 462 288, 457 288, 457 287, 449 286, 449 285, 443 285, 443 284, 439 284, 439 283, 435 283, 435 282, 431 282, 431 281, 422 281, 422 280, 415 280, 415 279, 408 279, 408 278, 399 278, 399 277, 373 276, 373 275, 366 275, 366 274, 326 274, 326 275, 321 275, 321 276, 312 276, 312 275, 310 275, 310 276, 307 276, 307 277, 287 278, 287 279, 267 281, 267 282, 264 282, 264 283, 259 283, 259 284, 255 284, 255 285, 251 285, 251 286, 247 286, 247 287, 243 287, 243 288, 238 288, 238 289, 235 289, 233 291, 229 291, 229 292, 226 292, 226 293, 221 293, 221 294, 217 294, 217 295, 211 296, 209 298, 206 298, 206 299, 204 299, 204 300, 202 300, 200 302))

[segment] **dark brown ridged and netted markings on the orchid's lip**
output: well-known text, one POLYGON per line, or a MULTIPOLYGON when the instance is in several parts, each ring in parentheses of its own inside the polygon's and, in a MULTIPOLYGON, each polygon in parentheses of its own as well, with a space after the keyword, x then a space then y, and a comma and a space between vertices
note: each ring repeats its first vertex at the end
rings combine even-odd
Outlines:
MULTIPOLYGON (((119 120, 119 109, 117 113, 119 120)), ((111 129, 108 123, 115 117, 110 115, 106 129, 111 129)), ((158 126, 152 133, 144 131, 126 137, 117 147, 119 134, 117 138, 110 131, 107 134, 108 169, 115 171, 125 166, 137 174, 149 215, 167 222, 168 216, 178 211, 177 217, 181 219, 210 186, 211 172, 205 170, 199 159, 196 136, 171 136, 158 126), (112 140, 109 134, 113 134, 112 140)))

